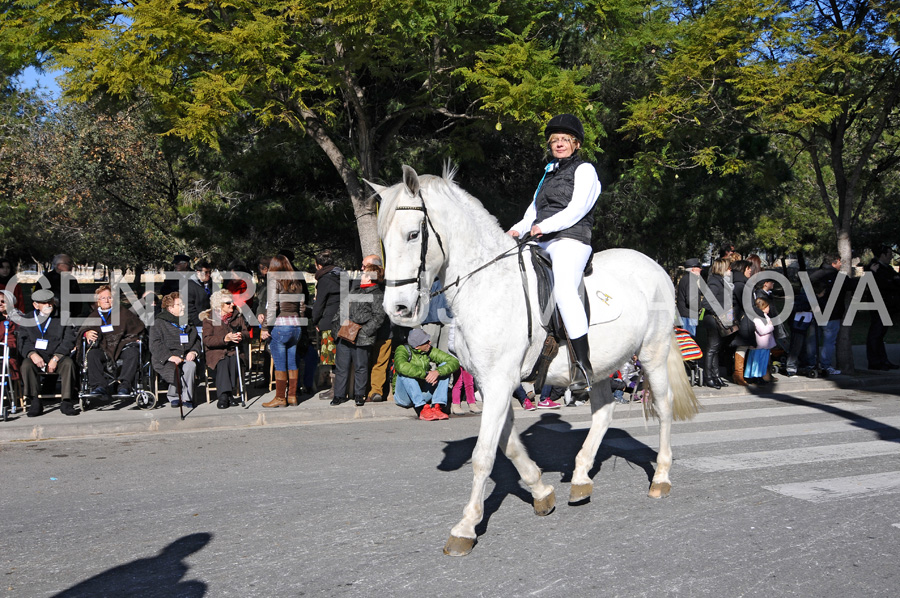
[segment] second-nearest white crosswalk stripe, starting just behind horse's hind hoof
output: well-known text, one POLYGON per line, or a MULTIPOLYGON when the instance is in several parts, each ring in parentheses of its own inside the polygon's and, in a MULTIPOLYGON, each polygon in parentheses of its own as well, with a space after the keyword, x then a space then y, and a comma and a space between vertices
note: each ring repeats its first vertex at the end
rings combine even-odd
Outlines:
POLYGON ((688 467, 705 473, 713 473, 898 454, 900 454, 900 444, 897 442, 873 440, 870 442, 829 444, 775 451, 738 453, 735 455, 721 455, 717 457, 693 457, 679 459, 678 465, 680 467, 688 467))

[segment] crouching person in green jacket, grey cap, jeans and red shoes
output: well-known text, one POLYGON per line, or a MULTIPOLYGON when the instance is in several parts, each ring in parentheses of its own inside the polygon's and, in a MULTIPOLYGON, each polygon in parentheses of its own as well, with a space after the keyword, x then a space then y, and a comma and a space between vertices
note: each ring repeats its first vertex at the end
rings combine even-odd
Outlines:
POLYGON ((419 419, 449 419, 446 413, 450 374, 459 361, 431 346, 431 337, 421 328, 410 331, 405 345, 394 351, 394 402, 414 407, 419 419), (430 404, 429 404, 430 401, 430 404))

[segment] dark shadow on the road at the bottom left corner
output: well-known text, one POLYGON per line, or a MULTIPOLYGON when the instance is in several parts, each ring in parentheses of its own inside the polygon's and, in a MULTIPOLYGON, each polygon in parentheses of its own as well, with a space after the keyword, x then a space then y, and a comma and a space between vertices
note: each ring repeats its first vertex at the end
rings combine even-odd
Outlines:
POLYGON ((197 533, 183 536, 159 554, 137 559, 107 569, 90 579, 55 594, 54 598, 98 598, 101 596, 178 596, 200 598, 206 595, 202 581, 182 581, 190 566, 184 559, 201 550, 212 534, 197 533))

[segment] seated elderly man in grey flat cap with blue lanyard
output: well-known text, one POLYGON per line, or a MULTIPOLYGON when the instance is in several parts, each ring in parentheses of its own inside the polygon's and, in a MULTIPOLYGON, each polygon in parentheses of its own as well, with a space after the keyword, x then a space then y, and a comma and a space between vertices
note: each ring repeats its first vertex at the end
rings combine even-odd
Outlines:
POLYGON ((65 415, 78 415, 75 410, 75 364, 70 357, 75 348, 73 326, 63 325, 56 308, 53 291, 40 289, 32 293, 34 312, 25 315, 25 325, 19 330, 19 351, 22 361, 22 380, 25 387, 26 415, 44 413, 41 403, 39 374, 56 374, 60 379, 62 403, 59 410, 65 415), (32 322, 33 320, 33 322, 32 322))

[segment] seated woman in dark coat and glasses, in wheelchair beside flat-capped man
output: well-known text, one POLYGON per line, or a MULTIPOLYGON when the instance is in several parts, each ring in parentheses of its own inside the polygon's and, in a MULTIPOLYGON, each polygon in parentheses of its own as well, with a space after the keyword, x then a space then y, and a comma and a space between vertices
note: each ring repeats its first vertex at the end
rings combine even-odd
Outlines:
POLYGON ((109 372, 118 383, 115 396, 131 396, 141 365, 139 341, 146 328, 134 312, 122 309, 118 303, 114 305, 109 285, 99 287, 94 299, 96 310, 91 316, 95 323, 85 324, 78 331, 78 337, 85 341, 82 357, 87 360, 91 395, 101 399, 109 397, 111 385, 106 375, 109 372), (120 359, 122 365, 118 367, 120 359))

